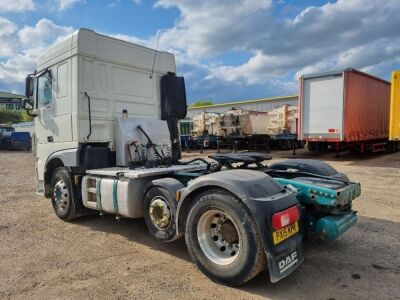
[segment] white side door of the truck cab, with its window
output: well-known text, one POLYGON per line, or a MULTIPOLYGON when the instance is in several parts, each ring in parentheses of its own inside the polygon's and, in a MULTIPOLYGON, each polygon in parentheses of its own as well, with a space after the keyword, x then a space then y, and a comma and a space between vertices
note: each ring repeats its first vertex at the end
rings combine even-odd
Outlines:
POLYGON ((49 69, 36 77, 35 142, 39 180, 43 180, 47 158, 54 151, 53 100, 53 75, 49 69))

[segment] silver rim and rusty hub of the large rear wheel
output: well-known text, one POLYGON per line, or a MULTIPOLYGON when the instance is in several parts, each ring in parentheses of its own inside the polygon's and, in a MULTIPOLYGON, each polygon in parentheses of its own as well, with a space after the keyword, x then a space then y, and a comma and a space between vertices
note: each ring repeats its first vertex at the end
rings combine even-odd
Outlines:
POLYGON ((203 253, 216 264, 228 265, 239 255, 237 226, 221 211, 207 211, 200 217, 197 237, 203 253))

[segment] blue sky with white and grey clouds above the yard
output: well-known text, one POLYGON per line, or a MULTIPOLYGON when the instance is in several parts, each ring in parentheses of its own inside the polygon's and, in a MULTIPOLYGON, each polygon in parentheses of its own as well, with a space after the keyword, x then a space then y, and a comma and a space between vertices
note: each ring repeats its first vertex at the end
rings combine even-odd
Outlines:
POLYGON ((0 90, 78 28, 175 55, 188 102, 293 95, 302 74, 400 69, 399 0, 0 0, 0 90))

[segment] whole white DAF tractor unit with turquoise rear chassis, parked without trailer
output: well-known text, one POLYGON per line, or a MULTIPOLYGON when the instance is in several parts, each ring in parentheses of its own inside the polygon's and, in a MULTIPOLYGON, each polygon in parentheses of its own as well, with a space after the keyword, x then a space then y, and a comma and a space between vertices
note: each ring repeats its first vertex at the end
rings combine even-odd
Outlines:
POLYGON ((356 223, 360 185, 315 160, 269 154, 181 160, 185 83, 174 56, 80 29, 27 76, 37 191, 58 218, 144 218, 154 238, 184 237, 212 280, 272 282, 304 260, 304 237, 335 240, 356 223))

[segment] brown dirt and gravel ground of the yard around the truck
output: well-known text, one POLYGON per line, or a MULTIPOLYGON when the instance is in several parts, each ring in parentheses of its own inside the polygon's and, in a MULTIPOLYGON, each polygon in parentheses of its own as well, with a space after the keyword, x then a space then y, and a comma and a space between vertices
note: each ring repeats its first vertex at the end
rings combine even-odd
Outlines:
POLYGON ((157 241, 141 219, 57 219, 35 194, 33 155, 2 151, 0 298, 400 299, 400 153, 298 157, 361 182, 358 224, 337 241, 307 242, 304 264, 288 278, 271 284, 263 272, 230 288, 197 270, 183 240, 157 241))

